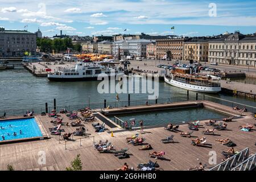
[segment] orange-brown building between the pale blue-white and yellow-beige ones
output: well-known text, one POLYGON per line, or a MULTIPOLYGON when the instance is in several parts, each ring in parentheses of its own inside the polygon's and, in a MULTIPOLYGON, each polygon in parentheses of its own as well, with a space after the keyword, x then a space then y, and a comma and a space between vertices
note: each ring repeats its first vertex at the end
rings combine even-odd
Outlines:
POLYGON ((168 38, 156 40, 156 59, 183 59, 183 43, 187 38, 168 38))

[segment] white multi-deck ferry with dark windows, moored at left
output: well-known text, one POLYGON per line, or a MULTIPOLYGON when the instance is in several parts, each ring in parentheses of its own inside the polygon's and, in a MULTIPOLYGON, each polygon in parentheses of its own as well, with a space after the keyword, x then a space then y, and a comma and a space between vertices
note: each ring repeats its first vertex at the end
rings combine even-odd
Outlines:
POLYGON ((48 79, 51 81, 89 81, 97 80, 101 73, 110 77, 110 74, 115 73, 117 75, 122 71, 100 63, 84 63, 81 61, 76 63, 75 68, 59 69, 54 73, 49 73, 48 79))

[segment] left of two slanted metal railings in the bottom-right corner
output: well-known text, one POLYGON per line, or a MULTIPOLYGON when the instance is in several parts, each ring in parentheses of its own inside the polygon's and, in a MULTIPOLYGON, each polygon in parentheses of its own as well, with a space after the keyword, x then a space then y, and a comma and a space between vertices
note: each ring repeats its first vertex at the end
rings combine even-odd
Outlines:
POLYGON ((230 171, 234 167, 245 162, 245 160, 248 159, 248 157, 249 157, 249 148, 247 147, 242 151, 240 151, 238 154, 233 155, 231 158, 218 164, 217 166, 210 168, 209 171, 230 171))

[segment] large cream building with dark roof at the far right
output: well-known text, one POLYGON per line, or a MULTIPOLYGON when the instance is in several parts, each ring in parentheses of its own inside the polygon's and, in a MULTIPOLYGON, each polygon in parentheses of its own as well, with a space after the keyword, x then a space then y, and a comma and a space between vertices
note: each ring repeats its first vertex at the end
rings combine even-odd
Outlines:
POLYGON ((243 35, 240 32, 225 34, 209 42, 211 63, 250 65, 256 64, 256 34, 243 35))

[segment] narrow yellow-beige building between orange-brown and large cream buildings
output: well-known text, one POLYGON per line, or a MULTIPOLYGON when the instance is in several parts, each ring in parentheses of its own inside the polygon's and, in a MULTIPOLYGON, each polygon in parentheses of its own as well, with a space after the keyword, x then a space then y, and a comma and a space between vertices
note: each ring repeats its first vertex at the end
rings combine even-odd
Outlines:
POLYGON ((189 40, 184 42, 184 60, 208 61, 208 47, 207 40, 189 40))

